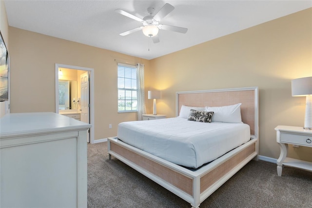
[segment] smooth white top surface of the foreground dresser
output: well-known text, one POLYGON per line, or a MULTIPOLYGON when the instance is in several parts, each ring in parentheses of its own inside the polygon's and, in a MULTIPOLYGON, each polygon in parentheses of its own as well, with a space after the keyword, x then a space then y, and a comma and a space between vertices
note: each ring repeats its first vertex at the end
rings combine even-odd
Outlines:
POLYGON ((90 124, 53 112, 9 113, 0 118, 0 137, 88 129, 90 124))

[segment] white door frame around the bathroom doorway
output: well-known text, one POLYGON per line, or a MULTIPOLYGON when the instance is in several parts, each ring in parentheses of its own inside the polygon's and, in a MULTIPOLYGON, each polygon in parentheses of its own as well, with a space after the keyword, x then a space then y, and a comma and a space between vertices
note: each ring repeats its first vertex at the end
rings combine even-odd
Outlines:
POLYGON ((72 66, 66 64, 55 64, 55 112, 59 113, 59 68, 68 68, 68 69, 76 69, 90 72, 90 143, 94 144, 94 69, 81 67, 81 66, 72 66))

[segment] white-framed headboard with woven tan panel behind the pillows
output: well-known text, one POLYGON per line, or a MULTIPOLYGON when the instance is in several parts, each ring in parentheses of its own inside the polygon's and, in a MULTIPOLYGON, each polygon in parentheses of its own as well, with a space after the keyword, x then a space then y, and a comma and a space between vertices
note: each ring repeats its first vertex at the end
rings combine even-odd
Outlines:
POLYGON ((176 116, 182 105, 192 107, 225 106, 241 103, 242 122, 258 138, 258 87, 186 91, 176 93, 176 116))

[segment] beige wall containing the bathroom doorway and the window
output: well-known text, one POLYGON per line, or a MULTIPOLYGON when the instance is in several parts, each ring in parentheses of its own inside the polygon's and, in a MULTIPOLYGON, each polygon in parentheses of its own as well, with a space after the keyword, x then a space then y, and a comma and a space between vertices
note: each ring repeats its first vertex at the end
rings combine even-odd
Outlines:
POLYGON ((60 63, 94 69, 95 139, 116 136, 117 124, 137 119, 137 113, 117 113, 115 59, 144 63, 146 90, 148 60, 14 27, 9 27, 9 35, 11 113, 55 112, 55 63, 60 63))

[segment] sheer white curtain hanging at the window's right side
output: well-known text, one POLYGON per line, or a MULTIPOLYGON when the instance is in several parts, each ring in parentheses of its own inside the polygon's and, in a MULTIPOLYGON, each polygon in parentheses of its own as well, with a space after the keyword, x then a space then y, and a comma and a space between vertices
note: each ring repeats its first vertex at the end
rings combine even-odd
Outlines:
POLYGON ((137 63, 137 120, 142 120, 145 114, 145 95, 144 95, 144 64, 137 63))

